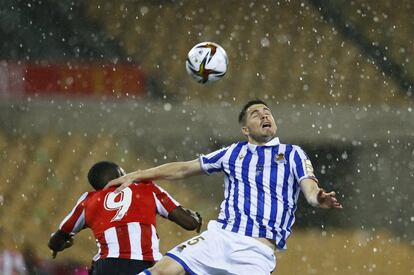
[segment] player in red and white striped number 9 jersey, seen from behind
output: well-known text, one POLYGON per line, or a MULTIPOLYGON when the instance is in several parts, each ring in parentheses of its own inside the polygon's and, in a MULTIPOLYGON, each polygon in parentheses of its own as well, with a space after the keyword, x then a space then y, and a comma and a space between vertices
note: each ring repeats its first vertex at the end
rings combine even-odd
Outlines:
POLYGON ((199 231, 199 214, 181 207, 153 182, 134 183, 119 193, 113 192, 115 188, 102 190, 110 180, 124 174, 113 162, 92 166, 88 180, 96 191, 84 193, 52 235, 49 247, 54 256, 72 245, 74 234, 90 228, 99 247, 92 274, 137 274, 162 257, 156 214, 184 229, 199 231))

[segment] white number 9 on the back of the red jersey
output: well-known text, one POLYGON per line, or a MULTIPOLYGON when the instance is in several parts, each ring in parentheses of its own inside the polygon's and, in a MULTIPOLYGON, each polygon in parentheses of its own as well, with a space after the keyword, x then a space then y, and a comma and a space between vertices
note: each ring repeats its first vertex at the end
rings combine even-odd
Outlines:
POLYGON ((130 188, 124 188, 118 194, 110 192, 105 196, 104 207, 106 210, 113 211, 118 210, 111 222, 121 220, 126 212, 128 212, 132 201, 132 190, 130 188))

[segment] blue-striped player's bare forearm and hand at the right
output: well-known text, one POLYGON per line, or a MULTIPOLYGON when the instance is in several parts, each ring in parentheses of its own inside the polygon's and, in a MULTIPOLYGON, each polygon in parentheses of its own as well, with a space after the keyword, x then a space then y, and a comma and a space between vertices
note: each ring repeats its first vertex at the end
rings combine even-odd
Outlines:
POLYGON ((325 209, 342 208, 342 205, 335 197, 335 192, 325 192, 325 190, 318 187, 316 181, 312 179, 304 179, 300 182, 300 187, 310 205, 325 209))

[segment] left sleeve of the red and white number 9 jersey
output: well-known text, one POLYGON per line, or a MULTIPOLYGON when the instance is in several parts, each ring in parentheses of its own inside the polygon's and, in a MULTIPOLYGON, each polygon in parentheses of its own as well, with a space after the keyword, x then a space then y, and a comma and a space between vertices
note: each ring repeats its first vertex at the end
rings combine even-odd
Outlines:
POLYGON ((76 202, 75 207, 59 225, 59 229, 69 234, 76 234, 85 226, 85 201, 88 192, 84 193, 76 202))

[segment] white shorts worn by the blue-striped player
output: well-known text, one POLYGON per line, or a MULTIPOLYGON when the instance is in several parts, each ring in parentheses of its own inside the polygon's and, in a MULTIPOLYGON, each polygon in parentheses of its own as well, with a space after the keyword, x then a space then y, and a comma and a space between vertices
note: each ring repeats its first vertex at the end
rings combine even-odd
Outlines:
POLYGON ((274 251, 260 241, 226 231, 216 221, 207 231, 185 241, 166 256, 193 275, 269 275, 276 267, 274 251))

